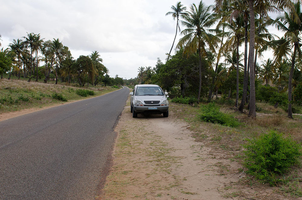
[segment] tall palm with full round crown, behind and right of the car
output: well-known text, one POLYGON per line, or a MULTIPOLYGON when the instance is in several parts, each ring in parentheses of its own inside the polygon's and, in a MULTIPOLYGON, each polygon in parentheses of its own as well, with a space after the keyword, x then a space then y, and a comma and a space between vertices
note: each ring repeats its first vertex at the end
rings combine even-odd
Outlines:
POLYGON ((211 52, 215 52, 217 41, 219 40, 216 36, 209 33, 209 28, 212 27, 217 20, 210 12, 211 9, 212 6, 206 7, 202 1, 200 1, 198 6, 195 4, 190 6, 190 11, 186 11, 188 15, 184 15, 181 21, 182 25, 186 27, 186 29, 181 32, 184 37, 179 40, 177 45, 178 48, 185 46, 184 54, 186 54, 187 57, 196 51, 199 54, 198 101, 201 93, 201 71, 204 70, 201 56, 207 56, 206 47, 208 47, 211 52))

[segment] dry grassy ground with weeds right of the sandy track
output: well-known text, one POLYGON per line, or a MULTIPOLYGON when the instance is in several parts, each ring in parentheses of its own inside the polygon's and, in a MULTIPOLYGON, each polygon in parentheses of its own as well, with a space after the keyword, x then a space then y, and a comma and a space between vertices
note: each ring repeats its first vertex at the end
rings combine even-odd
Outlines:
MULTIPOLYGON (((281 108, 274 108, 266 103, 257 103, 261 112, 257 112, 257 118, 252 119, 247 113, 240 113, 233 110, 232 105, 220 105, 222 113, 233 115, 239 121, 238 127, 229 127, 217 123, 203 122, 198 118, 201 113, 198 106, 172 103, 170 112, 177 118, 190 124, 190 129, 194 132, 196 141, 212 146, 218 154, 224 154, 232 162, 243 165, 245 155, 243 145, 247 139, 259 138, 271 130, 281 132, 285 137, 292 137, 298 143, 302 143, 302 116, 294 115, 294 119, 289 119, 287 113, 281 108)), ((248 112, 245 110, 245 112, 248 112)), ((246 171, 246 168, 238 169, 246 171)), ((277 190, 284 196, 302 197, 302 170, 301 166, 294 166, 290 172, 279 177, 281 182, 276 184, 277 190)), ((253 176, 246 176, 241 184, 257 185, 259 181, 253 176)), ((266 187, 270 187, 268 184, 266 187)))

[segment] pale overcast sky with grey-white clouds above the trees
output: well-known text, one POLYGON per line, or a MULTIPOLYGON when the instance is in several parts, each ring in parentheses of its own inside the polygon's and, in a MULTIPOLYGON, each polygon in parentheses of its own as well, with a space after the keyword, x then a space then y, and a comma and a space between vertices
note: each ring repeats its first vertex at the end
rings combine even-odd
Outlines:
MULTIPOLYGON (((135 78, 140 66, 165 62, 175 36, 176 21, 165 16, 174 0, 0 0, 2 47, 27 33, 44 40, 59 38, 72 56, 100 52, 110 76, 135 78)), ((199 1, 183 0, 189 7, 199 1)), ((204 0, 207 5, 214 0, 204 0)), ((278 34, 275 28, 271 33, 278 34)), ((180 36, 176 38, 174 48, 180 36)), ((174 51, 172 50, 172 54, 174 51)), ((265 53, 265 59, 271 53, 265 53)))

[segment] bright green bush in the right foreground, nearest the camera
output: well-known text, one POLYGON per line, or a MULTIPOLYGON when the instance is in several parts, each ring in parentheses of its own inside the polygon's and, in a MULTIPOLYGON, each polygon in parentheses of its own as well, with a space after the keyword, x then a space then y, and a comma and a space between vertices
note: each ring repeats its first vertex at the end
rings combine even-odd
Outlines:
POLYGON ((278 175, 299 163, 302 155, 300 144, 292 138, 283 138, 276 131, 270 131, 259 139, 248 140, 243 146, 246 148, 244 165, 248 173, 272 185, 279 181, 278 175))

